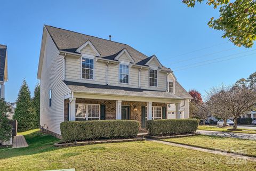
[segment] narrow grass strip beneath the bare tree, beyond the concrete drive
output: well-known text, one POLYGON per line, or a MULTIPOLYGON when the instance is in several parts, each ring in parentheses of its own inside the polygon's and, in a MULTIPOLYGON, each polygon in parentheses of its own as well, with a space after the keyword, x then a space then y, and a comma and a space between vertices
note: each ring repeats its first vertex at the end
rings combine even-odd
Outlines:
POLYGON ((208 126, 208 125, 198 125, 198 130, 205 130, 205 131, 220 131, 220 132, 232 132, 232 133, 246 133, 246 134, 256 134, 254 129, 243 129, 243 131, 230 131, 233 127, 217 127, 217 126, 208 126))

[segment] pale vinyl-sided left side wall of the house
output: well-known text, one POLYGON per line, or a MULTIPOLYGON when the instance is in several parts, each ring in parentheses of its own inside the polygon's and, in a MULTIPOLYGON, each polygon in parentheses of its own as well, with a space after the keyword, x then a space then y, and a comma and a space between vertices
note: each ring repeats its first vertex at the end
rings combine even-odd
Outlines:
POLYGON ((64 121, 64 95, 70 93, 62 82, 64 58, 59 55, 49 34, 46 36, 45 53, 40 80, 40 125, 60 134, 60 123, 64 121), (49 107, 49 91, 52 91, 52 105, 49 107))

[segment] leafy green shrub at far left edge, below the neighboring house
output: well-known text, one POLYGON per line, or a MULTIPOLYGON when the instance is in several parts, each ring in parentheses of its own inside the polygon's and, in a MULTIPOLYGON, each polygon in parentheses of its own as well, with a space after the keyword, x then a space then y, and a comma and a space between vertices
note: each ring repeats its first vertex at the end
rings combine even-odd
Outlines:
POLYGON ((12 126, 9 124, 9 119, 6 115, 10 111, 10 104, 4 101, 4 99, 0 99, 0 142, 9 141, 12 136, 12 126))

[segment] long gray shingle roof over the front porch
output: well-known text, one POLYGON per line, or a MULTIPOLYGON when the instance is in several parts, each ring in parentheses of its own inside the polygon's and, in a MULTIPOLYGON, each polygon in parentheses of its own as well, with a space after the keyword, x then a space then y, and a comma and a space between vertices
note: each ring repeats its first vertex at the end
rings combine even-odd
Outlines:
POLYGON ((99 93, 99 94, 115 94, 127 96, 157 97, 166 99, 191 99, 191 96, 178 82, 175 84, 175 94, 165 91, 153 91, 149 89, 130 88, 120 86, 109 86, 89 83, 67 82, 63 81, 71 91, 99 93))

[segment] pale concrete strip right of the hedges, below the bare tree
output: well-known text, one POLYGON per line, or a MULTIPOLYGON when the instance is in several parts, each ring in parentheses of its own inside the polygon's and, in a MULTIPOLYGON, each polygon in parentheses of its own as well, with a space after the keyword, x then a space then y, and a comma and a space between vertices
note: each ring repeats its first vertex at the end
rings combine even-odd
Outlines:
POLYGON ((196 132, 203 135, 231 137, 231 138, 246 139, 246 140, 256 140, 256 134, 243 134, 243 133, 230 133, 230 132, 204 131, 204 130, 197 130, 196 132))

